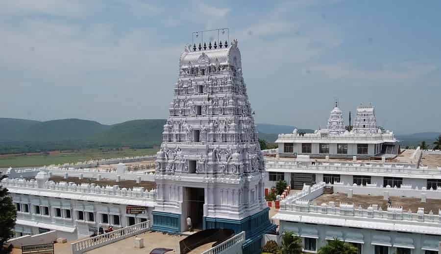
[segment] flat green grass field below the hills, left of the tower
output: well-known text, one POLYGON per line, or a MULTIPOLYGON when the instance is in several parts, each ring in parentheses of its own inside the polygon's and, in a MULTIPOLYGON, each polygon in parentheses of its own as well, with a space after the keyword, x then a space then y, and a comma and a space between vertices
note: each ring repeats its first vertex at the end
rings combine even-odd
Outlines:
POLYGON ((100 151, 98 149, 83 149, 70 152, 52 152, 50 154, 32 154, 0 157, 0 167, 29 167, 51 164, 76 163, 87 160, 121 158, 156 154, 157 149, 122 149, 100 151))

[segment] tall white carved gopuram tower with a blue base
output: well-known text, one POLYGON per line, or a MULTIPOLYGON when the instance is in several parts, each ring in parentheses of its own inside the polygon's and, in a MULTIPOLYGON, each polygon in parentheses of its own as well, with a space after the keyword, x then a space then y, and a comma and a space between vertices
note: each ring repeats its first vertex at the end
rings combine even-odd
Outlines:
POLYGON ((246 232, 260 252, 274 229, 264 197, 264 159, 242 77, 237 40, 186 46, 157 153, 152 230, 246 232))

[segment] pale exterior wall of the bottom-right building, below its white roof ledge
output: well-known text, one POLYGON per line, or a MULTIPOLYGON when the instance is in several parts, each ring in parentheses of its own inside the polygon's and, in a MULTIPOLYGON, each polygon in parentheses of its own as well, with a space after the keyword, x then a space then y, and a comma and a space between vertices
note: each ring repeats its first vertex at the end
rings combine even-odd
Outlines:
MULTIPOLYGON (((423 246, 425 246, 425 242, 431 241, 433 247, 437 246, 438 242, 441 241, 441 236, 439 235, 428 235, 428 234, 418 234, 418 233, 401 233, 396 231, 378 231, 378 230, 370 230, 370 229, 354 229, 354 228, 346 228, 346 227, 334 227, 329 225, 319 225, 319 224, 305 224, 305 223, 294 223, 289 221, 280 221, 280 232, 283 231, 294 231, 298 234, 302 235, 302 231, 311 231, 311 229, 318 232, 317 239, 317 249, 326 245, 326 235, 329 235, 329 232, 339 232, 339 234, 335 234, 336 237, 343 236, 343 239, 348 239, 346 241, 350 241, 349 238, 351 235, 362 234, 364 244, 362 244, 362 254, 372 254, 374 253, 374 245, 372 245, 372 240, 374 237, 380 237, 388 239, 391 238, 391 244, 398 240, 398 238, 406 238, 411 239, 413 241, 413 245, 415 249, 412 250, 412 254, 424 254, 424 250, 421 250, 423 246), (340 234, 341 232, 341 234, 340 234)), ((389 253, 395 253, 395 247, 389 247, 389 253)))

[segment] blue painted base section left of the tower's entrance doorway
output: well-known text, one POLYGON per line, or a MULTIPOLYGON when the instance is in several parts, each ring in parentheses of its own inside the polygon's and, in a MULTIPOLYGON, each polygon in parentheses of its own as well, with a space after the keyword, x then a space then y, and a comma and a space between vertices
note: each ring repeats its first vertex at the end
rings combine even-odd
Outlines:
POLYGON ((167 233, 181 232, 181 215, 170 212, 152 211, 153 225, 151 231, 161 231, 167 233))

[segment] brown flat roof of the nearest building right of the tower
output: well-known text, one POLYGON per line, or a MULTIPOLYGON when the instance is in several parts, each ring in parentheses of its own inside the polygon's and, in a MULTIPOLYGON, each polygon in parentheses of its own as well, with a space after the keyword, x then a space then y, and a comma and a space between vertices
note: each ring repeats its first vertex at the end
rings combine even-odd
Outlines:
MULTIPOLYGON (((441 199, 427 199, 426 203, 421 203, 421 199, 419 198, 389 197, 392 200, 392 206, 403 207, 403 212, 407 212, 411 209, 413 213, 416 213, 418 208, 424 208, 424 213, 429 213, 432 210, 434 214, 438 214, 438 209, 441 208, 441 199)), ((323 194, 312 202, 315 202, 316 205, 320 205, 322 203, 327 204, 331 201, 335 202, 336 206, 338 206, 339 203, 348 203, 354 204, 356 208, 362 206, 364 209, 370 205, 378 205, 383 211, 387 210, 389 205, 387 200, 383 200, 383 196, 352 195, 352 198, 348 198, 346 193, 323 194)))

